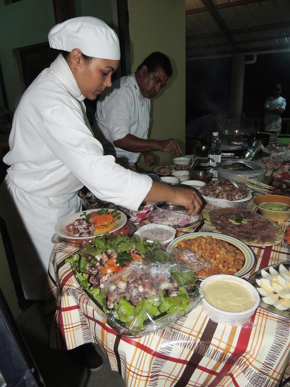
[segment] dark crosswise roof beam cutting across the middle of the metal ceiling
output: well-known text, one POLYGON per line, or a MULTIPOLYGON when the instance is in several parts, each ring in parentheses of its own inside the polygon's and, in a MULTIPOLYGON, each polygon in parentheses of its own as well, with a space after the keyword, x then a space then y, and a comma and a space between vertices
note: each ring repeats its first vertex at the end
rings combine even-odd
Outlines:
MULTIPOLYGON (((233 30, 229 30, 231 35, 238 35, 238 34, 246 34, 248 32, 257 32, 257 31, 266 31, 266 30, 276 30, 280 28, 289 28, 290 26, 290 20, 286 22, 278 22, 278 23, 269 23, 269 24, 261 24, 259 26, 251 26, 251 27, 245 27, 245 28, 236 28, 233 30)), ((186 40, 199 40, 199 39, 212 39, 212 38, 218 38, 220 36, 224 36, 223 31, 209 33, 209 34, 198 34, 194 36, 187 36, 186 40)))

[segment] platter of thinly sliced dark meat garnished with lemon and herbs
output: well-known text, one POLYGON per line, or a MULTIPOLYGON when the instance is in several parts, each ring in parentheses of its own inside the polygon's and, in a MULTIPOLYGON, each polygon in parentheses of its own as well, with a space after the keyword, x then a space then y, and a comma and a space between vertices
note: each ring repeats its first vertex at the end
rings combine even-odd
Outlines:
POLYGON ((283 239, 283 231, 270 219, 239 208, 214 208, 204 214, 204 222, 214 231, 253 246, 271 246, 283 239))

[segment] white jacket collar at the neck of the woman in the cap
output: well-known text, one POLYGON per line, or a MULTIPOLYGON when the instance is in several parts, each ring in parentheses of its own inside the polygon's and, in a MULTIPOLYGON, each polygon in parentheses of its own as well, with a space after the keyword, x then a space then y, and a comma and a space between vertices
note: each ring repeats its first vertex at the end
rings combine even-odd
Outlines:
POLYGON ((81 93, 73 73, 71 73, 66 60, 61 54, 51 63, 50 69, 73 97, 81 102, 84 101, 86 97, 81 93))

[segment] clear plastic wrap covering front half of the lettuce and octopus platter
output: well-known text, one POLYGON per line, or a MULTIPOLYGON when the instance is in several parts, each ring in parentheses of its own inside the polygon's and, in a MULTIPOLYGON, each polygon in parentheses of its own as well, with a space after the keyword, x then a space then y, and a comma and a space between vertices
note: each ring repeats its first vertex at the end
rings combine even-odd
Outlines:
POLYGON ((168 327, 203 298, 193 271, 176 263, 132 264, 108 280, 102 294, 107 323, 129 337, 168 327))

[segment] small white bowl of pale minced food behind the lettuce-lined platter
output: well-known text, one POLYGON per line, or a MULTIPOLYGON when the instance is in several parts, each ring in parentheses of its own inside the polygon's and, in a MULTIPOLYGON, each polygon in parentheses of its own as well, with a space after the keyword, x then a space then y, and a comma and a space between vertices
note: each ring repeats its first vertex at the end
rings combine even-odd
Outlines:
POLYGON ((176 230, 165 224, 150 223, 138 228, 134 233, 139 238, 146 238, 148 241, 157 241, 160 244, 168 244, 175 238, 176 230))

